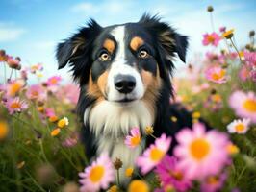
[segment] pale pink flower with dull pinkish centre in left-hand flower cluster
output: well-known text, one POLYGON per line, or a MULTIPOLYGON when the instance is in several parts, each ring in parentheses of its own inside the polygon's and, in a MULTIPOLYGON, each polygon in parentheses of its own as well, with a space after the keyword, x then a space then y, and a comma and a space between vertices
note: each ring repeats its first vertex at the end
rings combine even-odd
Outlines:
POLYGON ((43 90, 43 87, 39 84, 34 84, 31 85, 27 92, 26 92, 26 96, 28 99, 38 99, 38 100, 45 100, 46 99, 46 93, 43 90))

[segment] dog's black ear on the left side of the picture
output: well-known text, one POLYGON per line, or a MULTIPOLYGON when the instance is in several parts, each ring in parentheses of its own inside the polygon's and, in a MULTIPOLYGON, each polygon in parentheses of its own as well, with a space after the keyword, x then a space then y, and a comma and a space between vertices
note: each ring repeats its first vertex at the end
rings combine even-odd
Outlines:
POLYGON ((59 43, 56 50, 58 69, 64 68, 68 62, 73 63, 75 59, 86 54, 87 47, 101 30, 102 27, 90 19, 87 27, 81 28, 77 34, 59 43))

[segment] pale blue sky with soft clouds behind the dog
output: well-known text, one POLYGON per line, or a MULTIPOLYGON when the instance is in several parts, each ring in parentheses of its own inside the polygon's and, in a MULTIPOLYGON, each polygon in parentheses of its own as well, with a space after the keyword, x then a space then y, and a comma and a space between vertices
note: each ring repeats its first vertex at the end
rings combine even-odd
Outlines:
POLYGON ((1 0, 0 49, 20 56, 26 66, 42 62, 46 77, 60 74, 68 79, 67 69, 58 71, 54 57, 60 40, 84 26, 90 17, 107 26, 138 21, 143 12, 150 12, 159 13, 181 34, 190 36, 190 61, 194 54, 206 50, 201 40, 202 34, 211 32, 208 5, 215 9, 216 30, 220 26, 235 28, 238 45, 247 42, 248 31, 256 30, 255 0, 1 0))

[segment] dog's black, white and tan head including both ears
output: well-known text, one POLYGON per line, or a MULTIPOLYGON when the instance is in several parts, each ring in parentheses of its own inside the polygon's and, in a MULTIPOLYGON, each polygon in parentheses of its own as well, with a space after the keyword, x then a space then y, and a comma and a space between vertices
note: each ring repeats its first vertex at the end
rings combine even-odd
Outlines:
POLYGON ((58 45, 57 60, 59 69, 72 66, 74 79, 91 97, 123 104, 156 96, 169 82, 175 54, 185 61, 187 44, 187 36, 156 16, 105 28, 90 20, 58 45))

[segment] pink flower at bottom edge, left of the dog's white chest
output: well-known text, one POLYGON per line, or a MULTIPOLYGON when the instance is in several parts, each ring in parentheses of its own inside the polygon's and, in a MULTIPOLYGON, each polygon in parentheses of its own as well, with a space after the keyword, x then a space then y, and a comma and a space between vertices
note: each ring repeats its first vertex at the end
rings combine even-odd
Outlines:
POLYGON ((93 192, 107 189, 109 184, 115 180, 115 169, 109 156, 102 154, 92 164, 79 173, 81 192, 93 192))

